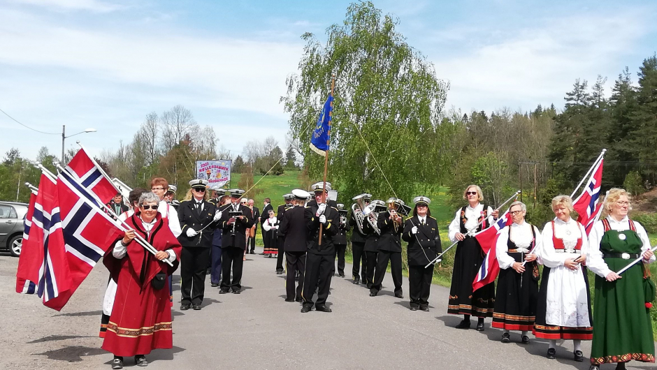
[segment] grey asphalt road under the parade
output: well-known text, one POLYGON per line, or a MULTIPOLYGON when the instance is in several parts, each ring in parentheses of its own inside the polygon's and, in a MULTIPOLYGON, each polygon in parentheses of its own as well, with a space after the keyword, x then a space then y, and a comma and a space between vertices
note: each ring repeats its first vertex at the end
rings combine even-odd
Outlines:
MULTIPOLYGON (((261 251, 261 250, 259 250, 261 251)), ((14 292, 18 259, 0 256, 0 369, 110 369, 113 356, 98 338, 106 269, 97 265, 61 312, 38 297, 14 292)), ((547 342, 530 335, 528 345, 500 343, 501 331, 457 330, 447 315, 447 288, 431 287, 431 311, 410 311, 408 299, 392 293, 386 276, 379 296, 369 297, 347 278, 331 282, 332 313, 300 313, 284 302, 284 279, 275 260, 250 255, 243 293, 219 295, 206 279, 201 311, 179 311, 174 286, 173 349, 154 350, 148 369, 588 369, 572 361, 572 341, 547 360, 547 342)), ((178 274, 175 282, 180 281, 178 274)), ((407 296, 407 280, 404 294, 407 296)), ((588 356, 590 342, 584 342, 588 356)), ((137 369, 126 359, 125 368, 137 369)), ((653 369, 630 362, 629 369, 653 369)), ((607 365, 603 369, 614 369, 607 365)))

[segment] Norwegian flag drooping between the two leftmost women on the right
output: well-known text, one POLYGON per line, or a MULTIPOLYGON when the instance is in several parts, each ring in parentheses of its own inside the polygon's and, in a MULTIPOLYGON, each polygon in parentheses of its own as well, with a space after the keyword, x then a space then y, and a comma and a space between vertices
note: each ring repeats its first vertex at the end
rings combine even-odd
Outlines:
POLYGON ((500 230, 506 225, 511 225, 512 223, 513 221, 507 210, 507 212, 504 212, 504 214, 500 216, 496 223, 493 223, 489 228, 475 234, 475 238, 477 238, 479 245, 482 246, 482 250, 486 253, 486 257, 484 257, 482 267, 479 267, 479 272, 477 272, 477 276, 475 276, 475 281, 472 281, 472 291, 477 290, 486 284, 492 283, 497 278, 498 273, 500 272, 500 265, 498 263, 495 244, 498 241, 500 230))

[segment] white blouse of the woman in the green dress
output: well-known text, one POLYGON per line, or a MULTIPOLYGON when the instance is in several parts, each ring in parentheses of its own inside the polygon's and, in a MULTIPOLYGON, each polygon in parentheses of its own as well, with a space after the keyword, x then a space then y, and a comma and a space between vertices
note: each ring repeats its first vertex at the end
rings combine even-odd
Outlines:
MULTIPOLYGON (((625 216, 621 221, 616 221, 612 216, 607 216, 607 221, 609 221, 609 227, 612 230, 616 231, 625 231, 630 230, 630 222, 628 216, 625 216)), ((651 249, 650 248, 650 239, 648 239, 648 234, 646 229, 634 221, 634 225, 637 229, 637 235, 641 238, 643 246, 641 247, 641 253, 651 249)), ((591 248, 589 249, 589 256, 586 258, 586 265, 589 266, 591 271, 595 272, 598 276, 607 277, 609 272, 612 270, 607 266, 607 262, 602 258, 602 252, 600 251, 600 242, 602 241, 602 235, 605 235, 605 226, 602 225, 602 221, 598 221, 593 225, 591 229, 591 234, 589 234, 589 244, 591 248)), ((654 262, 655 256, 652 256, 649 262, 654 262)))

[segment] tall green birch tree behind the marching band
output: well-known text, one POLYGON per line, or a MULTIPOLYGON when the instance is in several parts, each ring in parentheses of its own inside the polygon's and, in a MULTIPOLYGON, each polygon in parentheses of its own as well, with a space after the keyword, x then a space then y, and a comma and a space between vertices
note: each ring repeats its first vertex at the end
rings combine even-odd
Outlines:
MULTIPOLYGON (((397 25, 370 1, 352 3, 345 21, 329 27, 324 45, 312 34, 302 36, 301 73, 289 77, 287 96, 281 98, 291 135, 310 143, 335 74, 329 181, 347 194, 368 191, 384 198, 392 195, 391 186, 410 200, 416 189, 408 179, 435 165, 426 149, 441 133, 437 127, 448 86, 397 25)), ((310 177, 322 179, 324 158, 307 145, 303 157, 310 177)), ((440 184, 437 175, 425 172, 417 182, 440 184)))

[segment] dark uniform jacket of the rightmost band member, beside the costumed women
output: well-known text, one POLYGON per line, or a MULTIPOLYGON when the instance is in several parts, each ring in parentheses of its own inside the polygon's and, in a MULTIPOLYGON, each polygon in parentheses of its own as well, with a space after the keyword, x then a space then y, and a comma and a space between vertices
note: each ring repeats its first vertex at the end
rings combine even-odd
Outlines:
POLYGON ((431 216, 426 216, 425 225, 420 225, 417 216, 407 219, 401 237, 408 242, 408 265, 424 266, 442 252, 438 222, 431 216), (415 235, 411 232, 413 225, 417 226, 417 234, 415 235))

